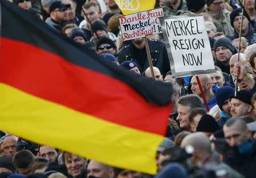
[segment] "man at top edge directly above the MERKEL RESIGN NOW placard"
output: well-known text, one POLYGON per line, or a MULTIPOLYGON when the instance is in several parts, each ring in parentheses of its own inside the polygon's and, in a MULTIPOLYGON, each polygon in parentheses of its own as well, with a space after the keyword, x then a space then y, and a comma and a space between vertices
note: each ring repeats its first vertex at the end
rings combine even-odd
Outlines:
POLYGON ((168 0, 166 7, 164 7, 164 15, 179 15, 181 12, 188 9, 186 1, 184 0, 168 0))

